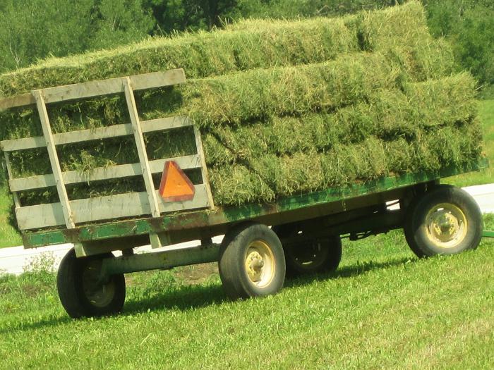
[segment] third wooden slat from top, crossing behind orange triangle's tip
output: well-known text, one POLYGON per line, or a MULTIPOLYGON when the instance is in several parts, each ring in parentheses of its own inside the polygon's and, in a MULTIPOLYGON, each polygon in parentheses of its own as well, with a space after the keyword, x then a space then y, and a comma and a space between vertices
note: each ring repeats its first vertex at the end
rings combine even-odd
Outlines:
MULTIPOLYGON (((201 163, 198 155, 177 156, 170 159, 157 159, 150 161, 150 169, 152 173, 160 173, 163 171, 164 162, 176 161, 183 170, 191 168, 200 168, 201 163)), ((62 173, 64 183, 86 183, 88 181, 110 180, 112 178, 125 178, 131 176, 142 175, 140 164, 120 164, 117 166, 97 167, 88 173, 80 173, 79 171, 67 171, 62 173)), ((14 178, 8 180, 8 185, 13 192, 23 190, 39 189, 42 187, 56 186, 54 175, 37 175, 28 178, 14 178)))

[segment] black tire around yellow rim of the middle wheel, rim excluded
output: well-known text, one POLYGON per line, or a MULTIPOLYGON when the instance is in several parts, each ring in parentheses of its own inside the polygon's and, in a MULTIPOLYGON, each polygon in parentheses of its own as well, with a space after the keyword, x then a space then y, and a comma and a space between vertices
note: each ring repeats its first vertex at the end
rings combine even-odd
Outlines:
POLYGON ((224 291, 232 300, 273 295, 283 288, 285 261, 282 243, 277 235, 260 223, 243 223, 225 235, 219 252, 219 277, 224 291), (272 253, 273 276, 267 285, 259 287, 248 277, 246 258, 253 242, 261 241, 272 253))

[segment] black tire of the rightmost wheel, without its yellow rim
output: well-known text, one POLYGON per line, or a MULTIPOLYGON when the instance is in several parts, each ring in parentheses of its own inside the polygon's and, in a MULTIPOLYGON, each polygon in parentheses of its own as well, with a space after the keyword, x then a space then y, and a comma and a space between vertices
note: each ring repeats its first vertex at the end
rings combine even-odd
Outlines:
POLYGON ((483 231, 482 213, 475 199, 467 192, 452 185, 438 185, 421 195, 407 210, 404 233, 406 242, 417 257, 433 257, 438 254, 457 254, 476 249, 483 231), (442 247, 428 237, 426 217, 440 204, 452 204, 464 214, 466 233, 455 245, 442 247))

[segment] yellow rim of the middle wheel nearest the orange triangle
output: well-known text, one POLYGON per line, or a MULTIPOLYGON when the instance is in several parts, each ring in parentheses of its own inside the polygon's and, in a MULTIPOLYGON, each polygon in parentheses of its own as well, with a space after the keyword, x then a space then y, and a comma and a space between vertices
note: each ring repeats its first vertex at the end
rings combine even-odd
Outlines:
POLYGON ((247 248, 245 266, 247 277, 258 288, 270 285, 275 277, 275 255, 263 240, 254 240, 247 248))

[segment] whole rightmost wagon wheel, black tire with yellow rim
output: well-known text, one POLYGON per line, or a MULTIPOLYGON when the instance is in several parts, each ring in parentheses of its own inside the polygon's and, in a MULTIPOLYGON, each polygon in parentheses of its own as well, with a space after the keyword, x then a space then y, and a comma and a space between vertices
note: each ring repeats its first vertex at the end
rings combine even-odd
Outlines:
POLYGON ((418 257, 431 257, 475 249, 482 229, 482 214, 475 199, 458 187, 440 185, 411 206, 404 232, 418 257))

